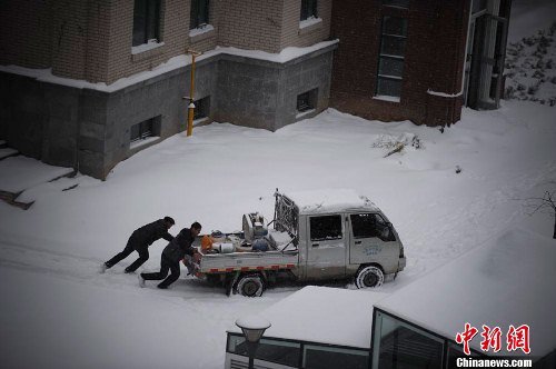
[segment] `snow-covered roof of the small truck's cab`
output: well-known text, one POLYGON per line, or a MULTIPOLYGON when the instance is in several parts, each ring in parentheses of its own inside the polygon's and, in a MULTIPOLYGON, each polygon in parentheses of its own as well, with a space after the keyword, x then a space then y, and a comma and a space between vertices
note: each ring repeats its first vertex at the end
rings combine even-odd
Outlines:
POLYGON ((299 208, 300 213, 326 213, 345 209, 378 211, 365 196, 351 189, 320 189, 284 193, 299 208))

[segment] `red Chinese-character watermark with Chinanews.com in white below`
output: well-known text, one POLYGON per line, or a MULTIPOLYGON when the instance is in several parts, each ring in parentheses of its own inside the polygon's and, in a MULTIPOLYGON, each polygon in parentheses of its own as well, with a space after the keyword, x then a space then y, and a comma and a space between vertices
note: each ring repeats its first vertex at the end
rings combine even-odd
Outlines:
MULTIPOLYGON (((522 325, 515 327, 509 325, 509 328, 503 332, 500 327, 488 327, 483 325, 480 335, 480 350, 484 352, 508 352, 522 350, 523 353, 530 353, 529 326, 522 325), (504 350, 503 350, 504 349, 504 350)), ((479 330, 466 322, 463 332, 456 335, 456 342, 463 346, 464 353, 471 356, 469 343, 479 333, 479 330)), ((516 358, 479 358, 479 357, 463 357, 456 359, 458 368, 533 368, 532 359, 516 358)))

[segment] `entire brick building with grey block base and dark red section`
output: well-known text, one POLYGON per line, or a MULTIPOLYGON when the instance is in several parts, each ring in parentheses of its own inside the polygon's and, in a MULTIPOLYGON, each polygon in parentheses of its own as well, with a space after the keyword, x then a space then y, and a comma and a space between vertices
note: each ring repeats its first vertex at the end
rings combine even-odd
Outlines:
MULTIPOLYGON (((509 9, 509 0, 475 0, 473 9, 498 16, 500 1, 509 9)), ((470 7, 470 0, 2 1, 0 138, 27 156, 103 179, 119 161, 185 129, 188 50, 203 53, 195 78, 199 120, 276 130, 331 106, 450 124, 464 103, 464 76, 474 93, 497 83, 485 83, 496 74, 490 54, 486 67, 464 72, 470 7)), ((505 44, 496 26, 473 19, 477 39, 505 44)), ((469 96, 477 107, 492 102, 469 96)))

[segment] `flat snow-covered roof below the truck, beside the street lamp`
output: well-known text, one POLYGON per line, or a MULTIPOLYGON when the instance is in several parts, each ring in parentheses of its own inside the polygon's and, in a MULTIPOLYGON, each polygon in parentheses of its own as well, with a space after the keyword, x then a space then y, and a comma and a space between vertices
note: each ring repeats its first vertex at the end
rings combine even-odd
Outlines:
MULTIPOLYGON (((271 322, 265 337, 370 347, 373 305, 387 295, 308 286, 260 312, 271 322)), ((231 332, 241 332, 239 328, 231 332)))

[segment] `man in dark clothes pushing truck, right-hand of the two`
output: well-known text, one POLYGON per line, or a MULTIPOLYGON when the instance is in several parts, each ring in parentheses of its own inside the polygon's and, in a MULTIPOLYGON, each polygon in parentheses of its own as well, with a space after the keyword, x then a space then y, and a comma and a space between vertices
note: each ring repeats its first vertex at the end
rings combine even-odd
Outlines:
POLYGON ((162 256, 160 257, 160 271, 155 273, 140 273, 139 275, 139 285, 145 287, 146 280, 160 280, 165 279, 157 287, 161 289, 168 288, 171 283, 173 283, 179 278, 179 262, 187 255, 193 256, 199 252, 191 245, 195 241, 195 238, 199 236, 201 231, 201 225, 195 222, 191 225, 191 228, 183 228, 176 238, 168 243, 168 246, 163 249, 162 256), (168 276, 168 271, 170 270, 170 276, 168 276), (166 277, 168 276, 168 277, 166 277))

